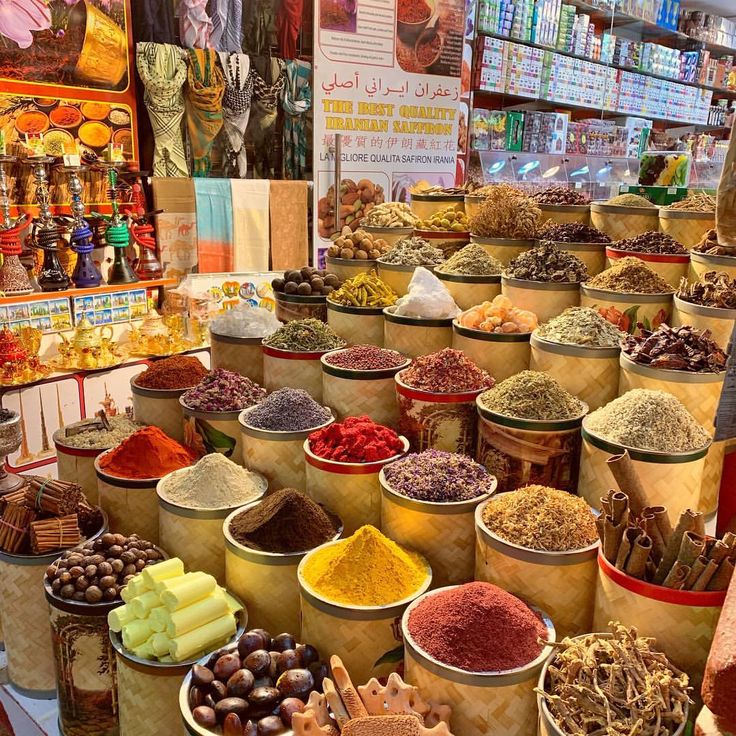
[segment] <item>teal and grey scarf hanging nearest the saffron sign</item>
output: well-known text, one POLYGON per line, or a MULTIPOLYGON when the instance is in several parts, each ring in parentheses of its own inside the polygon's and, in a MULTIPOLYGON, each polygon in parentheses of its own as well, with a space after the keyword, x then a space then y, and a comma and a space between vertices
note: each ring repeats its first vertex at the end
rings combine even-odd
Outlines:
POLYGON ((284 117, 284 178, 301 179, 307 167, 307 116, 312 106, 309 76, 312 65, 306 61, 286 62, 286 87, 281 106, 284 117))

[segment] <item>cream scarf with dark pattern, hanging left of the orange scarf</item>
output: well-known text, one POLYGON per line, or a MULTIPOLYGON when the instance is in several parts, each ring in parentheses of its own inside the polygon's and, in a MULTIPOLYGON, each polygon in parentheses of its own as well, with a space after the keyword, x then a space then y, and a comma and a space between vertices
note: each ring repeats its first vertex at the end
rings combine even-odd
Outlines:
POLYGON ((136 65, 153 128, 153 175, 189 176, 181 132, 187 75, 182 51, 170 44, 143 41, 136 46, 136 65))

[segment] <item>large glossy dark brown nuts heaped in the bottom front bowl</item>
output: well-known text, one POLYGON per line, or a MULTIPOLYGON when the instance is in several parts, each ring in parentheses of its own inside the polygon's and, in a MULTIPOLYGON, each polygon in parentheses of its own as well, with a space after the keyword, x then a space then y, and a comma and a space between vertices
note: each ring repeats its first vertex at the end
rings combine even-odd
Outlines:
POLYGON ((291 731, 292 716, 304 711, 327 674, 313 646, 251 629, 237 647, 192 667, 192 718, 204 728, 219 725, 225 736, 278 736, 291 731))

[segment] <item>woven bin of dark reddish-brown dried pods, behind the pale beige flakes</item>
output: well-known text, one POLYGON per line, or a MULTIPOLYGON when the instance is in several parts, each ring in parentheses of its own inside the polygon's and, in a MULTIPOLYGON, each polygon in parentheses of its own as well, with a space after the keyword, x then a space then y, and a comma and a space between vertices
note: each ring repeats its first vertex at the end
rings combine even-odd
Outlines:
MULTIPOLYGON (((725 375, 724 372, 689 373, 651 368, 634 363, 622 354, 619 395, 634 388, 667 391, 679 399, 695 419, 713 435, 715 432, 713 421, 718 409, 718 401, 721 398, 725 375)), ((725 442, 714 442, 705 458, 703 482, 700 488, 700 508, 706 514, 718 508, 725 447, 725 442)))

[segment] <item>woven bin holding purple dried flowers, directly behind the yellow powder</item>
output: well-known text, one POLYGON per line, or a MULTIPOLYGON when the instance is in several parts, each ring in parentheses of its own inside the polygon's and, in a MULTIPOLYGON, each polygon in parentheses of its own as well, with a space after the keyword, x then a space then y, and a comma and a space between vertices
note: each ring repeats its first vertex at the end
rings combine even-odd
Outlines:
POLYGON ((381 483, 381 530, 394 542, 416 550, 432 567, 432 585, 441 588, 473 580, 474 512, 495 493, 469 501, 420 501, 393 490, 385 471, 381 483))

